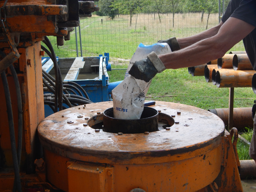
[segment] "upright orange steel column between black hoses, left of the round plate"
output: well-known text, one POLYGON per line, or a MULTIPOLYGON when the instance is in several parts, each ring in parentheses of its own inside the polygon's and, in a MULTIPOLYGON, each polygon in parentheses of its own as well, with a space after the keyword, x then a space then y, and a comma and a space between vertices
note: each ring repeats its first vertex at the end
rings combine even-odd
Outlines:
POLYGON ((22 83, 22 102, 24 119, 24 136, 26 143, 27 172, 33 173, 35 170, 34 161, 36 153, 39 151, 38 137, 36 129, 38 124, 44 119, 44 93, 41 64, 41 43, 36 42, 34 46, 20 49, 21 57, 19 62, 24 71, 22 83))

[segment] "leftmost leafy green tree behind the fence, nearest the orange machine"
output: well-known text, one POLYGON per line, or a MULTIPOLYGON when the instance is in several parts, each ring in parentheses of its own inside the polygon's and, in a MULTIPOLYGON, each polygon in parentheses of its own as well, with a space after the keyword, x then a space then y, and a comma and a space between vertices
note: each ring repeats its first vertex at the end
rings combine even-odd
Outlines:
POLYGON ((118 9, 113 6, 114 0, 99 0, 100 12, 114 19, 118 14, 118 9))

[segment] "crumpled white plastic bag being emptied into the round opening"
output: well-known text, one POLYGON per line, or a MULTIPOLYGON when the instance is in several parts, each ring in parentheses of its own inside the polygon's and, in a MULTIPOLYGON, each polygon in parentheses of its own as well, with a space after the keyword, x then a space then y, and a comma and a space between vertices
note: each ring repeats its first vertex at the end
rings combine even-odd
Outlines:
POLYGON ((112 90, 114 118, 126 120, 140 119, 144 109, 145 95, 151 80, 145 82, 135 79, 129 75, 128 71, 135 61, 147 58, 147 55, 151 52, 161 55, 172 51, 167 43, 156 43, 148 46, 142 43, 139 44, 128 65, 125 80, 112 90))

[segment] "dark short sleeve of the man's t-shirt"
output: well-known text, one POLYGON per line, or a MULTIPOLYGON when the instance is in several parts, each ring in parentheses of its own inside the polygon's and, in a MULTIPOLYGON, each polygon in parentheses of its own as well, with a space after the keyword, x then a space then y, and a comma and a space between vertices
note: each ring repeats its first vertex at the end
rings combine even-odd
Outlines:
POLYGON ((256 0, 231 0, 221 19, 222 22, 229 17, 235 17, 256 26, 256 0))

